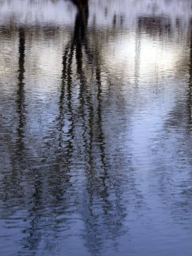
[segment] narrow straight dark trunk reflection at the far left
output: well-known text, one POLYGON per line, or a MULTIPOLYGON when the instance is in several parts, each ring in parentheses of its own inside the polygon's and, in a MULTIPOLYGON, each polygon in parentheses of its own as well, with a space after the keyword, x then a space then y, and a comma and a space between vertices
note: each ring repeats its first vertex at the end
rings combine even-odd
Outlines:
MULTIPOLYGON (((24 168, 24 124, 25 124, 25 29, 19 27, 18 29, 18 77, 16 90, 16 112, 17 112, 17 127, 16 127, 16 141, 10 137, 8 138, 9 151, 11 153, 11 167, 10 173, 5 175, 5 195, 13 193, 15 199, 20 198, 22 187, 20 186, 20 177, 24 168), (9 193, 7 193, 7 189, 9 193)), ((5 201, 9 201, 10 196, 5 197, 5 201)), ((13 209, 12 209, 13 210, 13 209)))

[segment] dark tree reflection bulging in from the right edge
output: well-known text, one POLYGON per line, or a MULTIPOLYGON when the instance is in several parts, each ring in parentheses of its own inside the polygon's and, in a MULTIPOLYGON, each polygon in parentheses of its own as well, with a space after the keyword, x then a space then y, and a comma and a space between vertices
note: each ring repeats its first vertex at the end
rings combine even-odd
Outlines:
MULTIPOLYGON (((178 20, 179 23, 179 20, 178 20)), ((163 143, 158 148, 159 192, 161 200, 172 213, 172 218, 177 223, 184 224, 190 221, 191 209, 191 104, 192 104, 192 21, 189 21, 187 43, 189 56, 185 61, 185 74, 188 80, 182 81, 181 91, 175 99, 175 104, 168 112, 164 122, 162 135, 163 143), (184 95, 184 96, 183 96, 184 95), (172 147, 170 147, 172 145, 172 147), (162 157, 163 156, 163 157, 162 157), (163 159, 163 160, 162 160, 163 159), (169 164, 168 161, 170 161, 169 164), (172 198, 172 200, 170 200, 172 198)), ((179 25, 178 25, 179 26, 179 25)), ((177 90, 177 89, 175 89, 177 90)), ((156 159, 157 161, 157 159, 156 159)), ((186 228, 187 225, 186 225, 186 228)))

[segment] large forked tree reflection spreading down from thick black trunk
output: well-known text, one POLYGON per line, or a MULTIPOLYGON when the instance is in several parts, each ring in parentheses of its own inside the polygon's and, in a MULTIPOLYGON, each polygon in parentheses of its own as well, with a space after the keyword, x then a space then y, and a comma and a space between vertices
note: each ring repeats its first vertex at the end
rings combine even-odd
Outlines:
MULTIPOLYGON (((94 43, 88 40, 88 1, 73 3, 77 14, 73 34, 63 49, 57 117, 54 127, 50 126, 48 136, 42 141, 43 161, 37 159, 37 166, 33 163, 26 175, 33 188, 28 193, 29 224, 24 230, 27 234, 24 244, 33 252, 42 241, 50 244, 52 239, 49 247, 52 250, 58 243, 59 231, 62 230, 65 237, 73 214, 80 214, 86 246, 92 254, 100 254, 107 243, 118 246, 117 239, 128 229, 123 223, 125 195, 129 197, 134 190, 130 200, 136 203, 142 200, 135 187, 133 168, 127 170, 130 164, 127 152, 119 154, 119 148, 116 150, 113 145, 114 138, 119 140, 116 137, 120 131, 116 134, 105 131, 104 97, 110 95, 106 95, 108 90, 103 91, 103 59, 97 34, 92 34, 94 43), (125 175, 126 172, 129 174, 125 175), (69 212, 70 218, 67 217, 69 212)), ((110 87, 110 77, 106 80, 110 87)), ((24 84, 20 90, 24 96, 24 84)), ((20 98, 20 102, 24 103, 24 98, 20 98)), ((24 117, 20 119, 24 125, 24 117)), ((22 128, 19 126, 18 130, 21 138, 22 128)), ((122 143, 119 142, 123 147, 122 143)))

